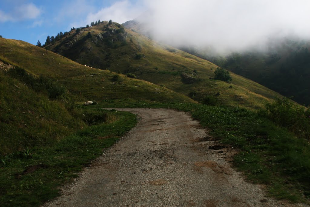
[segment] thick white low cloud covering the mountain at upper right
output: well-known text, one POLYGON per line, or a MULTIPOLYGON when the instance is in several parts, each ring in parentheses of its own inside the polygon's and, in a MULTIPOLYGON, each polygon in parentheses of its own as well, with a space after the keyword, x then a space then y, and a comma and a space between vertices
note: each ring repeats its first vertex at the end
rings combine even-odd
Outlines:
POLYGON ((263 47, 270 37, 310 38, 308 0, 144 1, 137 18, 152 37, 173 45, 209 46, 217 52, 263 47))

